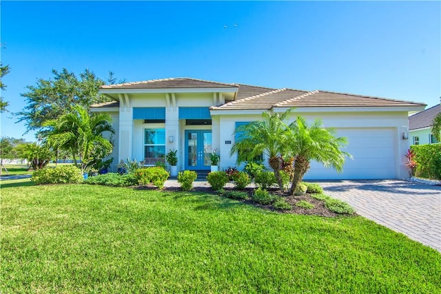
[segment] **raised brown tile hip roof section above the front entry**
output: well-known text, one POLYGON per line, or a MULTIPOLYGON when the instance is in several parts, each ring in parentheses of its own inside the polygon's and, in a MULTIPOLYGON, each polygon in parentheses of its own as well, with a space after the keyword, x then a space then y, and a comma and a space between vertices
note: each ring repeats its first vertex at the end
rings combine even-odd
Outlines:
POLYGON ((204 81, 197 78, 161 78, 158 80, 102 85, 100 89, 165 89, 165 88, 218 88, 238 87, 238 85, 204 81))

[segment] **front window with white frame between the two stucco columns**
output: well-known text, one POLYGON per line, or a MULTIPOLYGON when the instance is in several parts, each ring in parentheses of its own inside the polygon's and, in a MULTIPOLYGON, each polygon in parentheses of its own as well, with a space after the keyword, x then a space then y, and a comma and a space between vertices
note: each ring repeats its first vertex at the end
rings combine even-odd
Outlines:
POLYGON ((144 164, 165 162, 165 129, 144 129, 144 164))

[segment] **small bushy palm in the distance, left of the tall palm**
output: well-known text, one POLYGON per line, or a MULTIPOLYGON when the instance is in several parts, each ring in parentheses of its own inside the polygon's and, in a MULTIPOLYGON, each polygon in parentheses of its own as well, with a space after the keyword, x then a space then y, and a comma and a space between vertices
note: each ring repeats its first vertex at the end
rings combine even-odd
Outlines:
POLYGON ((28 165, 37 170, 48 165, 54 153, 45 144, 23 143, 17 146, 17 156, 28 160, 28 165))

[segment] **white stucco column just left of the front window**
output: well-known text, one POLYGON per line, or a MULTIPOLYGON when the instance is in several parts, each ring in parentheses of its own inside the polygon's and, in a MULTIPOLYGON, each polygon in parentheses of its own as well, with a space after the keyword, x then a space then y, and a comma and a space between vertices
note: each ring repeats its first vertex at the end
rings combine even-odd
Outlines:
POLYGON ((118 163, 132 158, 133 145, 133 108, 121 107, 119 109, 119 154, 118 163))

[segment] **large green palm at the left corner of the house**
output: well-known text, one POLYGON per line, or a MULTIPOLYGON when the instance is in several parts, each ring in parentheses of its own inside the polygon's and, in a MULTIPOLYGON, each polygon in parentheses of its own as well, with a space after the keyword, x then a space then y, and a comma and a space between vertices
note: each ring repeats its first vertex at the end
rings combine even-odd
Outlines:
POLYGON ((112 118, 109 114, 89 114, 88 109, 75 105, 72 111, 54 120, 48 120, 44 126, 49 127, 47 141, 54 148, 70 151, 74 158, 81 160, 81 171, 85 171, 94 160, 95 154, 107 156, 112 152, 110 140, 103 133, 114 134, 112 118))

